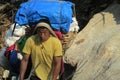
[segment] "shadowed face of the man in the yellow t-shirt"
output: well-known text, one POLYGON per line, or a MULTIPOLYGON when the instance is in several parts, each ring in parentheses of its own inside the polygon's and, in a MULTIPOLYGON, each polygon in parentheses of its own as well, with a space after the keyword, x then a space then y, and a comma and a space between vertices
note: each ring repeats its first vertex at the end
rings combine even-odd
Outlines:
POLYGON ((47 28, 38 28, 37 34, 42 41, 46 41, 50 37, 50 31, 47 28))

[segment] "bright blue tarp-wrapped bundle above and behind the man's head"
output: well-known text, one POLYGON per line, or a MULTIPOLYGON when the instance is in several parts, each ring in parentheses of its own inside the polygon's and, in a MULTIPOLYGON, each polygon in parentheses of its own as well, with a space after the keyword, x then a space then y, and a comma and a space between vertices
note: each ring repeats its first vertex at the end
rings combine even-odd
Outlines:
POLYGON ((33 23, 47 18, 54 30, 67 33, 72 22, 72 6, 68 1, 28 1, 20 5, 15 22, 34 26, 33 23))

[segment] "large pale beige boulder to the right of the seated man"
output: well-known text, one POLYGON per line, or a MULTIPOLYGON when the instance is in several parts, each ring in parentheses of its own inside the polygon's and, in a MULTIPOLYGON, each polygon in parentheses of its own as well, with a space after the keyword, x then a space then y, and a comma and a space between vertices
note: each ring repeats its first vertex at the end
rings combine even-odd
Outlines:
POLYGON ((120 80, 120 4, 93 16, 66 51, 72 80, 120 80))

